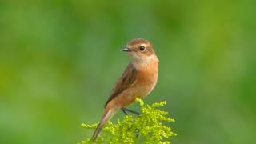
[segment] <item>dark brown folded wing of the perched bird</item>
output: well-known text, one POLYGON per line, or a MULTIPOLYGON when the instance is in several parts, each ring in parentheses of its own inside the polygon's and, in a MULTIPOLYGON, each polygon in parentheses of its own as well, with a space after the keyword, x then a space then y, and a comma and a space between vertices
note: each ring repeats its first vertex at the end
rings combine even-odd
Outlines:
POLYGON ((134 84, 136 81, 136 74, 137 71, 134 68, 134 66, 130 63, 127 67, 124 73, 120 78, 118 78, 118 82, 115 84, 114 89, 112 90, 110 94, 110 98, 106 101, 106 105, 114 98, 116 98, 119 94, 121 94, 124 90, 129 88, 134 84))

